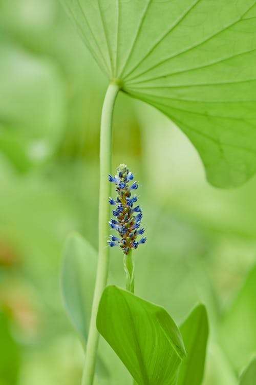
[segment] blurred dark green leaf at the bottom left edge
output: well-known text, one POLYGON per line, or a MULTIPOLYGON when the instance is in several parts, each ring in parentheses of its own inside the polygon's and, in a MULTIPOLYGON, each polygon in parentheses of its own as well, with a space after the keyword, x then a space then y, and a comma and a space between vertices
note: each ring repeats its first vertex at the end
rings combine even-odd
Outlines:
POLYGON ((6 314, 0 309, 0 385, 15 385, 17 383, 20 352, 13 339, 6 314))

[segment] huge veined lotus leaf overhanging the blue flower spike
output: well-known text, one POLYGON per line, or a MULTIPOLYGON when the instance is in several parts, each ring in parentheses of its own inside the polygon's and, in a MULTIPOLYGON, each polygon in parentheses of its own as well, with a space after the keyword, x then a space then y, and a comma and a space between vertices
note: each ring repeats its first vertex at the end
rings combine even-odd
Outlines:
POLYGON ((110 80, 183 130, 212 184, 255 173, 255 0, 62 3, 110 80))

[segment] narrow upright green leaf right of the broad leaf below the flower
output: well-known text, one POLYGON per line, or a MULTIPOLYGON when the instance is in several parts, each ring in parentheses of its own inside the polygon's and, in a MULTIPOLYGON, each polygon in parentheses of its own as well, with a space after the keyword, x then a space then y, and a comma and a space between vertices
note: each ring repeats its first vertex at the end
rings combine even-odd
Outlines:
POLYGON ((178 385, 201 385, 209 333, 205 306, 200 304, 180 326, 187 356, 182 361, 178 385))

